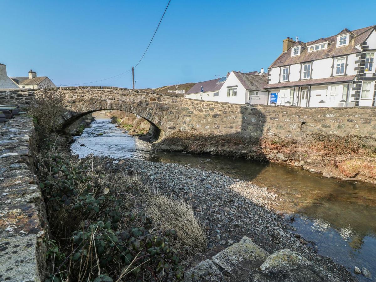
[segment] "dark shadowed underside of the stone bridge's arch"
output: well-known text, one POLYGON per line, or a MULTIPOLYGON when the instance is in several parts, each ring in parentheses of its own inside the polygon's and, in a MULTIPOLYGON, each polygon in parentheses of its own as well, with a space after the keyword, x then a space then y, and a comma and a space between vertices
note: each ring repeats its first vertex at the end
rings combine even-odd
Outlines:
MULTIPOLYGON (((124 111, 124 110, 119 110, 119 109, 96 109, 96 110, 80 112, 80 113, 67 112, 62 118, 62 123, 60 126, 61 132, 69 133, 69 131, 71 130, 71 127, 73 126, 76 127, 78 124, 75 124, 75 123, 80 123, 81 121, 83 121, 83 118, 85 118, 86 115, 89 115, 95 112, 100 112, 100 111, 120 111, 120 112, 134 114, 137 117, 143 118, 150 124, 149 130, 146 134, 149 135, 149 138, 152 142, 160 140, 160 138, 162 138, 163 136, 163 132, 161 128, 158 125, 156 125, 153 121, 151 121, 153 120, 153 118, 150 118, 150 117, 145 118, 142 115, 136 114, 135 113, 136 111, 130 112, 130 111, 124 111)), ((111 118, 111 116, 109 116, 109 118, 111 118)))

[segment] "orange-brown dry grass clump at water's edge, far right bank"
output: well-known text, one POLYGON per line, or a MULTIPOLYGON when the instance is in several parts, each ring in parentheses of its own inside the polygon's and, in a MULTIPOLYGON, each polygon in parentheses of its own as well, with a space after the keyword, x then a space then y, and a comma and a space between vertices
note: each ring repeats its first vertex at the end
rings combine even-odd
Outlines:
POLYGON ((344 176, 354 177, 361 174, 366 177, 376 178, 376 162, 362 159, 351 159, 337 164, 337 168, 344 176))

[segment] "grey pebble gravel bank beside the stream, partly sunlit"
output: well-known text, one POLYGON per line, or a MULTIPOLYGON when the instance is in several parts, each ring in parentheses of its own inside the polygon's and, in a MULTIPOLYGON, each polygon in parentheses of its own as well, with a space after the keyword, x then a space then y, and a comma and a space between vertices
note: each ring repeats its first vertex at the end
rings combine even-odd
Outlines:
POLYGON ((159 191, 191 200, 205 226, 208 252, 230 246, 247 236, 269 253, 287 248, 302 254, 323 272, 344 281, 356 280, 342 265, 317 255, 315 247, 291 229, 288 216, 271 210, 271 205, 276 205, 279 198, 267 188, 189 165, 133 159, 118 164, 119 160, 99 159, 111 171, 139 173, 159 191))

